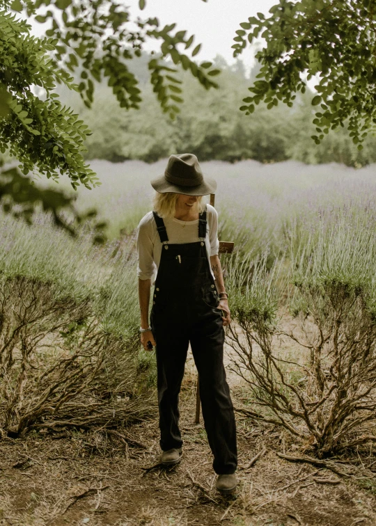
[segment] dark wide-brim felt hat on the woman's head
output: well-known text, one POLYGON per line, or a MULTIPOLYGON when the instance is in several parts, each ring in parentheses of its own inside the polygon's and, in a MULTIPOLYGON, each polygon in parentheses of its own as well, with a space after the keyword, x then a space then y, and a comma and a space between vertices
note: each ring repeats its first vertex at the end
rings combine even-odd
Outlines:
POLYGON ((204 176, 194 154, 171 155, 164 175, 150 181, 159 193, 184 193, 187 196, 207 196, 217 190, 217 182, 204 176))

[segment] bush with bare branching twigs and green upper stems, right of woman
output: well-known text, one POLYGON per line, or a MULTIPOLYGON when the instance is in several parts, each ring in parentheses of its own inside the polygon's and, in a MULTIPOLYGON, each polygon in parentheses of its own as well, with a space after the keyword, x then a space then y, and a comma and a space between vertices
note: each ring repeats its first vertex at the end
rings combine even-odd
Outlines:
POLYGON ((254 404, 244 413, 288 429, 318 456, 376 440, 374 232, 372 218, 347 213, 318 223, 292 254, 291 330, 279 310, 282 267, 268 272, 264 258, 251 275, 246 265, 233 271, 238 327, 228 342, 254 404))

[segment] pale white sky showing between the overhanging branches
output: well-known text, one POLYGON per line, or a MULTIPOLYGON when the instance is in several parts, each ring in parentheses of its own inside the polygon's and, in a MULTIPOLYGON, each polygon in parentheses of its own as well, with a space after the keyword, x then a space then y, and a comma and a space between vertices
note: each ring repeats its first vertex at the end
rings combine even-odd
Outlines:
MULTIPOLYGON (((157 17, 161 24, 172 24, 174 31, 187 29, 194 34, 194 43, 202 44, 196 55, 198 61, 211 61, 217 54, 233 63, 233 38, 240 22, 247 22, 256 13, 266 14, 277 0, 146 0, 146 8, 139 10, 139 0, 125 0, 132 17, 157 17)), ((188 34, 187 33, 187 34, 188 34)), ((191 47, 193 49, 194 46, 191 47)), ((148 47, 150 49, 150 47, 148 47)), ((154 49, 157 49, 155 47, 154 49)), ((253 64, 253 49, 249 46, 240 55, 248 69, 253 64)))

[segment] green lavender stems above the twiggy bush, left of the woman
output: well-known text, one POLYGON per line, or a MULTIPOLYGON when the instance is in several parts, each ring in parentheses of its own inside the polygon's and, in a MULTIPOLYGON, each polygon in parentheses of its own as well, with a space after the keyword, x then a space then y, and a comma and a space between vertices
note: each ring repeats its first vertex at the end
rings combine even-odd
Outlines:
POLYGON ((57 297, 89 299, 104 330, 134 337, 139 307, 131 243, 113 256, 116 244, 93 246, 88 234, 73 239, 45 216, 32 226, 10 216, 1 219, 3 278, 26 276, 51 283, 57 297))

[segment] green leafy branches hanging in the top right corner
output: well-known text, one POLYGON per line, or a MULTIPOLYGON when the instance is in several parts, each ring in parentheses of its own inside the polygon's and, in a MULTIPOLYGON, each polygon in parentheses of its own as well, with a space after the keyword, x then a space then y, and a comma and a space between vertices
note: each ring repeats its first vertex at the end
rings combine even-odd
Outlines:
POLYGON ((240 24, 234 38, 234 56, 259 35, 266 41, 256 54, 258 79, 240 109, 249 115, 261 101, 268 109, 280 101, 292 106, 306 81, 318 75, 313 140, 319 144, 347 121, 361 150, 368 131, 376 129, 375 0, 280 0, 269 13, 240 24))

